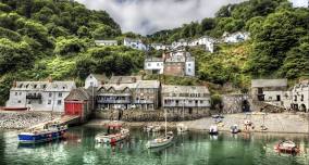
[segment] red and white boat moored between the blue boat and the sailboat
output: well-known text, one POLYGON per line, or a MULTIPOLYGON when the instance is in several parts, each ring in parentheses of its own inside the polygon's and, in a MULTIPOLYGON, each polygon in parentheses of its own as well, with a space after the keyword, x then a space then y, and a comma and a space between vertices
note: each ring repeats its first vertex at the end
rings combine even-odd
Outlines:
POLYGON ((112 135, 108 135, 108 134, 99 134, 96 136, 96 142, 99 143, 114 143, 118 141, 121 141, 125 138, 127 138, 129 136, 129 130, 128 129, 121 129, 120 132, 118 134, 112 134, 112 135))

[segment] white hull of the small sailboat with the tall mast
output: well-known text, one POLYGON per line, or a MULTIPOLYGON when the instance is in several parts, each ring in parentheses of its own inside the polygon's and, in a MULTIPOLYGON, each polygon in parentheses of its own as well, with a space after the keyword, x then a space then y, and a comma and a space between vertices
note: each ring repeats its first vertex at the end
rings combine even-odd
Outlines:
POLYGON ((173 138, 174 138, 173 132, 169 131, 164 137, 148 141, 146 143, 146 148, 153 149, 153 148, 160 148, 163 145, 168 145, 172 142, 173 138))

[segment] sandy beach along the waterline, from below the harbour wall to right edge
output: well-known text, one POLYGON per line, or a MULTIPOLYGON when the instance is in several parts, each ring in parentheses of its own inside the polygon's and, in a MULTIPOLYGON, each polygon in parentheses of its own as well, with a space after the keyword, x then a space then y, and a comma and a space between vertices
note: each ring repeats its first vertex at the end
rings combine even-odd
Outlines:
MULTIPOLYGON (((230 127, 237 124, 242 130, 245 130, 244 122, 249 119, 254 124, 254 129, 249 132, 276 132, 276 134, 308 134, 309 122, 308 114, 294 114, 294 113, 277 113, 263 115, 246 115, 226 114, 224 115, 223 123, 219 126, 219 131, 230 131, 230 127), (264 125, 268 129, 261 130, 264 125)), ((88 126, 104 126, 109 120, 94 119, 90 120, 88 126)), ((205 117, 196 120, 182 122, 188 126, 189 130, 208 130, 211 125, 214 125, 214 119, 205 117)), ((169 128, 176 128, 177 122, 169 122, 169 128)), ((143 127, 145 125, 164 125, 164 122, 125 122, 127 127, 143 127)))

